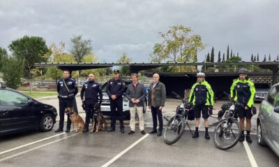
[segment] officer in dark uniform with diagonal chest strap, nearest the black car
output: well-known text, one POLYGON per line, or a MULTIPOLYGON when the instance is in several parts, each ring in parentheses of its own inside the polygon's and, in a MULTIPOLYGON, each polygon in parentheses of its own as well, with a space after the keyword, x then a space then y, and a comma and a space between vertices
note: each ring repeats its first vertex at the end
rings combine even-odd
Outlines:
MULTIPOLYGON (((59 98, 59 128, 55 132, 63 132, 65 110, 68 107, 73 107, 75 95, 78 89, 75 79, 70 78, 70 71, 63 70, 63 78, 57 83, 57 92, 59 98)), ((65 132, 70 132, 70 115, 67 115, 67 127, 65 132)))

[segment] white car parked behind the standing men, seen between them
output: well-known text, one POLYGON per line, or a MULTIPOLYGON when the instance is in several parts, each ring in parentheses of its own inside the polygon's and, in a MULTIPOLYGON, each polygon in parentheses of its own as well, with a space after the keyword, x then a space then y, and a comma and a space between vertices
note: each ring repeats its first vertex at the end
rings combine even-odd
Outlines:
MULTIPOLYGON (((125 84, 125 92, 127 90, 127 86, 129 84, 132 83, 131 79, 123 79, 124 84, 125 84)), ((101 90, 103 92, 103 101, 102 104, 100 106, 100 110, 102 111, 102 113, 105 116, 110 116, 110 98, 108 97, 107 93, 106 93, 106 89, 107 89, 107 84, 108 81, 105 82, 105 84, 103 84, 103 86, 101 86, 101 90)), ((147 86, 144 86, 145 90, 146 90, 146 95, 147 93, 147 86)), ((146 111, 146 107, 147 107, 147 97, 144 98, 144 113, 146 111)), ((130 119, 130 107, 129 107, 129 100, 127 97, 123 96, 123 116, 126 119, 130 119)))

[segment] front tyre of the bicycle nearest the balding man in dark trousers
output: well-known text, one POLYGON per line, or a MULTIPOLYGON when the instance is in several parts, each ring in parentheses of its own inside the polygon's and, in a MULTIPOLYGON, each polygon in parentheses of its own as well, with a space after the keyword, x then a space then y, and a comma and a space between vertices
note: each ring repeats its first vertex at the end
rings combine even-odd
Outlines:
POLYGON ((172 145, 172 144, 176 143, 177 141, 179 141, 179 138, 181 138, 181 136, 182 136, 182 134, 184 132, 184 129, 185 129, 185 119, 182 116, 179 116, 179 115, 176 115, 176 116, 172 117, 169 120, 169 122, 167 122, 167 127, 165 127, 165 129, 164 129, 163 139, 164 139, 165 143, 167 145, 172 145), (179 123, 177 124, 177 125, 179 125, 179 127, 177 127, 177 125, 174 125, 174 128, 178 129, 180 131, 180 133, 173 140, 169 140, 167 138, 167 135, 169 133, 167 131, 167 129, 169 129, 169 127, 173 125, 173 123, 174 123, 173 121, 174 120, 179 121, 179 123))

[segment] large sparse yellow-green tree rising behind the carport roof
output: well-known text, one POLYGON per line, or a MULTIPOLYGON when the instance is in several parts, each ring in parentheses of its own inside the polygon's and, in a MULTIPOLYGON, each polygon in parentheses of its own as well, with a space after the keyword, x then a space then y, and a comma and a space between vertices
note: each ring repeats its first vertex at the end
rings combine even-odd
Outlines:
POLYGON ((151 62, 197 61, 197 53, 204 49, 200 35, 182 25, 172 26, 167 33, 159 32, 163 42, 156 43, 151 54, 151 62))

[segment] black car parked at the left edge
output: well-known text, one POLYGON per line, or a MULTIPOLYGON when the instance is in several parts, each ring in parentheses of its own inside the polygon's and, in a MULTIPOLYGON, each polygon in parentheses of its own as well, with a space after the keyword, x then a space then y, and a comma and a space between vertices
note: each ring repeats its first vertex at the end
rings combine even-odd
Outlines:
POLYGON ((52 130, 57 111, 0 83, 0 136, 29 129, 52 130))

